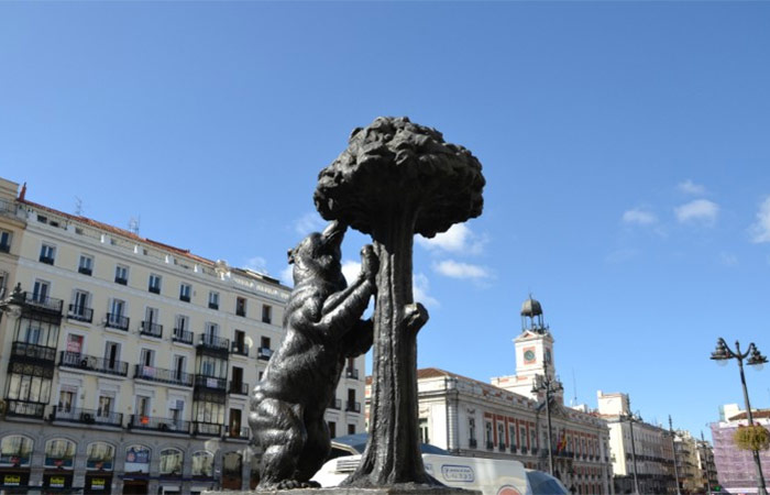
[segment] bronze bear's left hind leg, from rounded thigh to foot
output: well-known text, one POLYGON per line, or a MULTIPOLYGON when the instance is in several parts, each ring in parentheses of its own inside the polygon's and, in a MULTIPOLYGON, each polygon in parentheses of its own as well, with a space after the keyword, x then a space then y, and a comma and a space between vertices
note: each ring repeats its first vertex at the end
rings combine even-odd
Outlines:
POLYGON ((297 460, 307 432, 295 410, 277 399, 264 399, 251 414, 256 443, 264 449, 260 463, 260 488, 279 487, 295 480, 297 460))

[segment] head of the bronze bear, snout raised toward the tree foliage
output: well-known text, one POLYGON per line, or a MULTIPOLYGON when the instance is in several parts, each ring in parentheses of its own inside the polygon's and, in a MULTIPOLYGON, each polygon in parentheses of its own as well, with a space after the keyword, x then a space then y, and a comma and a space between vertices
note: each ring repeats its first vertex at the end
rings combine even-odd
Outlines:
POLYGON ((333 221, 323 232, 314 232, 288 250, 288 262, 294 264, 295 286, 308 279, 346 286, 340 263, 340 246, 346 229, 344 223, 333 221))

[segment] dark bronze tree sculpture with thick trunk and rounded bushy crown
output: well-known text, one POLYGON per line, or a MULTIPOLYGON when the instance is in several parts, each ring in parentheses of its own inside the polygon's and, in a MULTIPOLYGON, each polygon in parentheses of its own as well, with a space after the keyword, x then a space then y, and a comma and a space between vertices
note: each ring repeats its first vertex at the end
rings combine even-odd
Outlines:
POLYGON ((432 238, 480 216, 484 184, 470 151, 407 118, 355 129, 319 174, 318 211, 371 234, 380 260, 370 440, 346 486, 438 484, 417 439, 417 332, 428 314, 413 296, 414 235, 432 238))

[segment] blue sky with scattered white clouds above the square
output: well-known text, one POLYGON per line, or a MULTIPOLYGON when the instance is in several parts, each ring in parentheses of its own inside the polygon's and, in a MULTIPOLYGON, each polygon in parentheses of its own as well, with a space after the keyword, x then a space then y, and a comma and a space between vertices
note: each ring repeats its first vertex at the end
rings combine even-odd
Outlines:
MULTIPOLYGON (((6 2, 0 175, 280 276, 350 131, 409 116, 487 179, 481 218, 415 246, 419 365, 513 373, 531 292, 568 398, 628 392, 645 419, 707 433, 743 400, 735 364, 708 360, 717 337, 770 353, 769 19, 767 2, 6 2)), ((770 407, 770 370, 748 382, 770 407)))

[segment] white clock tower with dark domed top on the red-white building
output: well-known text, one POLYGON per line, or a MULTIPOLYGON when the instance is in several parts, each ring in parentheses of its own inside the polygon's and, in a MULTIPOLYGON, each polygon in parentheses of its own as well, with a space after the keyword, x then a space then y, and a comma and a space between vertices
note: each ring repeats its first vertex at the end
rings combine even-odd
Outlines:
MULTIPOLYGON (((492 384, 535 400, 541 400, 542 393, 532 392, 532 387, 548 375, 553 382, 556 364, 553 361, 553 336, 543 323, 542 306, 532 296, 521 305, 521 333, 514 339, 516 345, 516 375, 492 378, 492 384)), ((563 404, 563 395, 558 392, 553 397, 563 404)))

